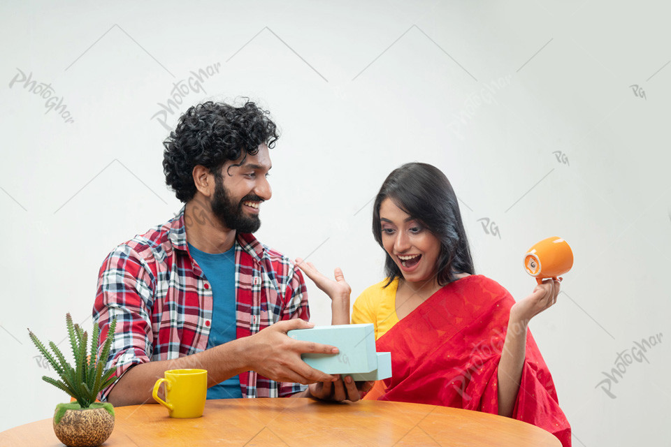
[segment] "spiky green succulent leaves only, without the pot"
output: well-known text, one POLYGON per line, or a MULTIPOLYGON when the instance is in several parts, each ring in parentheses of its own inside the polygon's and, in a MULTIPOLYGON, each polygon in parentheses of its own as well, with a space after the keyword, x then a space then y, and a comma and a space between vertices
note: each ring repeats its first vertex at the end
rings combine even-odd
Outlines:
MULTIPOLYGON (((94 323, 90 356, 87 357, 87 332, 82 330, 80 325, 73 324, 70 314, 66 314, 65 319, 68 327, 68 336, 70 337, 70 346, 72 347, 75 360, 74 366, 66 361, 65 356, 54 342, 49 342, 49 346, 53 351, 52 355, 30 329, 28 329, 28 332, 30 339, 42 353, 43 358, 47 359, 51 367, 61 378, 61 380, 55 380, 48 376, 42 376, 42 380, 51 383, 60 390, 64 390, 68 395, 75 398, 81 409, 87 409, 96 402, 96 396, 100 390, 106 388, 115 380, 112 376, 115 369, 105 369, 105 365, 110 353, 110 347, 112 346, 117 321, 115 318, 110 324, 100 355, 98 355, 100 348, 98 341, 99 328, 94 323)), ((106 404, 105 406, 108 405, 106 404)), ((111 405, 109 406, 110 409, 108 411, 111 410, 111 405)))

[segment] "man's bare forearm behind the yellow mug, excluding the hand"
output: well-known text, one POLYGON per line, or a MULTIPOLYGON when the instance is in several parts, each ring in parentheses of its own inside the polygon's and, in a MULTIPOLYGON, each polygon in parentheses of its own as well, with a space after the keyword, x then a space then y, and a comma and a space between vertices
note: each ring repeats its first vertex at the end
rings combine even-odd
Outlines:
POLYGON ((248 339, 242 338, 192 356, 147 362, 131 367, 110 391, 108 402, 114 406, 153 403, 154 383, 163 377, 168 369, 207 369, 208 388, 215 386, 229 377, 250 369, 247 362, 247 344, 248 339))

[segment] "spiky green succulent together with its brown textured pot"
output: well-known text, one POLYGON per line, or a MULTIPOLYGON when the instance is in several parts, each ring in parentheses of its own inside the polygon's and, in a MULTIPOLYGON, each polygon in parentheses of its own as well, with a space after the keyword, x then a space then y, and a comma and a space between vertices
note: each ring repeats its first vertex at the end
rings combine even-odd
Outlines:
POLYGON ((100 446, 108 439, 114 428, 112 404, 96 402, 96 396, 115 379, 112 376, 115 369, 105 369, 105 364, 117 322, 114 320, 110 324, 100 355, 98 355, 99 329, 94 323, 88 356, 87 332, 79 325, 73 324, 70 314, 66 315, 66 323, 74 365, 67 362, 54 342, 49 342, 53 351, 50 353, 36 335, 28 330, 30 339, 42 353, 43 358, 60 376, 60 380, 42 376, 43 381, 51 383, 73 397, 72 402, 56 406, 54 431, 58 439, 68 447, 100 446))

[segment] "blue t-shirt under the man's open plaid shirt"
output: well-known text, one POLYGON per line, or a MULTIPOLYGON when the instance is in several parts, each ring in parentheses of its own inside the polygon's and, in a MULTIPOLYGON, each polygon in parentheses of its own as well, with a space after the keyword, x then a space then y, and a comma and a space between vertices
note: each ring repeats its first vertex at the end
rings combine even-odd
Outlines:
MULTIPOLYGON (((236 247, 224 253, 205 253, 189 244, 192 258, 212 288, 212 326, 208 349, 236 339, 236 247)), ((208 399, 241 398, 240 378, 233 376, 208 388, 208 399)))

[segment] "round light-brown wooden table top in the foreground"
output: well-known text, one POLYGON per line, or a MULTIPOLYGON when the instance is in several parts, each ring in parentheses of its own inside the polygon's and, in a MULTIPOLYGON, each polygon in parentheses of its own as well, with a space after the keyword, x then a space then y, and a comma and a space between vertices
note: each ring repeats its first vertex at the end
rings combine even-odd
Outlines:
MULTIPOLYGON (((157 404, 115 409, 103 446, 534 446, 561 447, 533 425, 445 406, 310 399, 208 400, 202 418, 171 419, 157 404)), ((62 446, 52 420, 0 433, 0 446, 62 446)))

